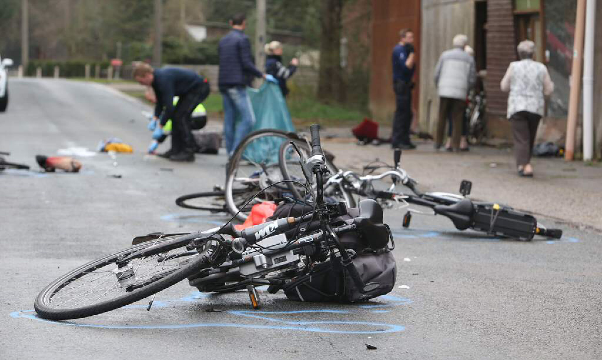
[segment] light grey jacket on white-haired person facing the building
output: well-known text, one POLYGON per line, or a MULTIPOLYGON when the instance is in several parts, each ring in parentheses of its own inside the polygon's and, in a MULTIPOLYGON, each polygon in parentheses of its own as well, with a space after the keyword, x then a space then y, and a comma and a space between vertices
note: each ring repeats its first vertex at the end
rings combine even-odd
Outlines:
POLYGON ((442 98, 465 100, 476 79, 474 58, 462 49, 444 51, 439 57, 435 67, 435 84, 442 98))

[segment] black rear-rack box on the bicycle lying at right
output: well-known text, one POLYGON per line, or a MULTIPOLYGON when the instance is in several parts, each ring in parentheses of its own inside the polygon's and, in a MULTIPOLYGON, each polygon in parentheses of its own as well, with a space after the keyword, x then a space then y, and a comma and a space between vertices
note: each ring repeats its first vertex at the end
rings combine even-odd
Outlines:
POLYGON ((530 241, 537 229, 537 220, 529 214, 494 203, 476 203, 473 229, 518 240, 530 241))

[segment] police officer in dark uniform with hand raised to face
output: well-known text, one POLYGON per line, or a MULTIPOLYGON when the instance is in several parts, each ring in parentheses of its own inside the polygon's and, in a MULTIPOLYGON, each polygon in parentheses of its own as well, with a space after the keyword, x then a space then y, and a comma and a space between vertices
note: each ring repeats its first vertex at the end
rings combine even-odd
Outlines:
POLYGON ((414 75, 414 34, 410 29, 399 32, 399 43, 393 48, 393 91, 396 110, 393 119, 391 146, 401 149, 415 149, 410 141, 412 125, 412 76, 414 75))

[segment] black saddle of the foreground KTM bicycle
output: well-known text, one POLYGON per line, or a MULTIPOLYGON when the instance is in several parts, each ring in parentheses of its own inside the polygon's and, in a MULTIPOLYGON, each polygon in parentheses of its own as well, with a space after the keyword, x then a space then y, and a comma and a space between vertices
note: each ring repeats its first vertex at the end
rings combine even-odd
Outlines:
POLYGON ((382 223, 382 207, 373 199, 364 199, 359 202, 359 217, 353 219, 358 226, 362 238, 373 250, 382 249, 389 243, 389 231, 382 223))

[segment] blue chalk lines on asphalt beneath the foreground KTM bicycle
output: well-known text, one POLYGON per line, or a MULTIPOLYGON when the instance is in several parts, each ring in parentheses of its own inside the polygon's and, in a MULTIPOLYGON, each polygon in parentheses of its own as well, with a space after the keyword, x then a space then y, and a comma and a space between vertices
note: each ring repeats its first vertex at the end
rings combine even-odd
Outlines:
MULTIPOLYGON (((198 299, 208 297, 207 294, 193 291, 188 296, 182 297, 179 300, 155 301, 153 306, 164 308, 176 302, 193 302, 198 299)), ((379 303, 371 305, 358 306, 359 308, 382 308, 387 306, 399 306, 411 303, 412 300, 393 295, 383 295, 378 299, 388 300, 391 303, 379 303)), ((45 323, 78 326, 78 327, 96 327, 101 329, 189 329, 193 327, 239 327, 246 329, 279 329, 279 330, 298 330, 306 332, 321 332, 327 334, 386 334, 391 332, 399 332, 405 330, 405 327, 397 324, 372 323, 364 321, 308 321, 301 318, 283 319, 278 316, 293 316, 312 315, 312 314, 341 314, 349 315, 356 314, 358 307, 349 306, 349 310, 341 309, 309 309, 309 310, 293 310, 293 311, 251 311, 251 310, 231 310, 226 311, 230 315, 241 318, 254 318, 261 321, 270 321, 275 323, 270 324, 246 324, 246 323, 190 323, 190 324, 154 324, 146 326, 136 325, 110 325, 110 324, 90 324, 90 323, 73 323, 71 321, 54 321, 40 318, 34 310, 22 310, 11 312, 13 318, 29 318, 31 320, 43 321, 45 323), (349 329, 338 329, 337 326, 350 327, 349 329)), ((138 309, 146 308, 144 304, 128 305, 124 308, 138 309)), ((370 311, 373 314, 382 314, 389 312, 385 309, 373 309, 370 311)))

